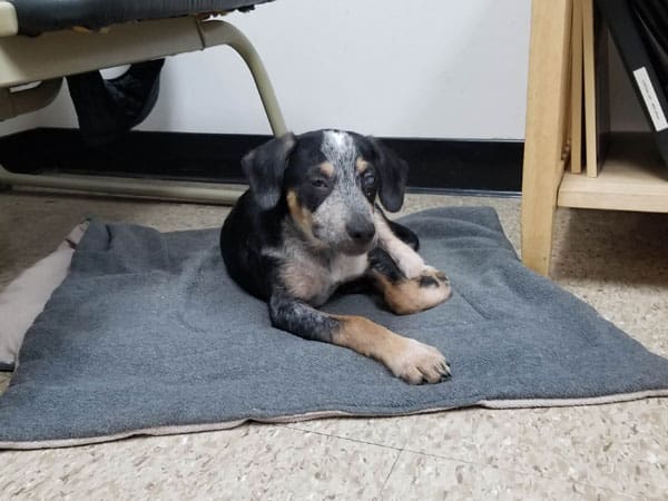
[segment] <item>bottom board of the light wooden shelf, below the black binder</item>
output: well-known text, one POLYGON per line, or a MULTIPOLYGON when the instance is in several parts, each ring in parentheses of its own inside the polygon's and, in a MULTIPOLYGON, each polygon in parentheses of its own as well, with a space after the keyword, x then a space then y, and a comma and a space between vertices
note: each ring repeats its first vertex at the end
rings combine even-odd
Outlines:
POLYGON ((668 213, 668 167, 649 135, 615 136, 598 177, 564 173, 557 205, 668 213))

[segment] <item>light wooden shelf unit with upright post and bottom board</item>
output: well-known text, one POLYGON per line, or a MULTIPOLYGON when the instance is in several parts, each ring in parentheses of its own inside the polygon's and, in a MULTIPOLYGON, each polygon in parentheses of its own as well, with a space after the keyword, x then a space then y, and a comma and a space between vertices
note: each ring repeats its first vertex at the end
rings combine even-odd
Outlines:
POLYGON ((522 262, 542 275, 550 273, 557 207, 668 213, 668 166, 661 161, 650 132, 609 136, 607 159, 597 165, 598 155, 605 151, 599 139, 609 130, 605 91, 608 46, 595 32, 596 20, 590 16, 596 12, 593 1, 531 2, 522 262), (597 40, 600 63, 596 60, 597 40), (596 100, 601 105, 598 110, 596 100), (582 120, 583 110, 589 119, 582 120), (564 154, 573 151, 573 170, 581 166, 578 160, 587 157, 587 173, 598 177, 571 173, 569 161, 564 173, 564 154), (601 167, 599 173, 596 167, 601 167))

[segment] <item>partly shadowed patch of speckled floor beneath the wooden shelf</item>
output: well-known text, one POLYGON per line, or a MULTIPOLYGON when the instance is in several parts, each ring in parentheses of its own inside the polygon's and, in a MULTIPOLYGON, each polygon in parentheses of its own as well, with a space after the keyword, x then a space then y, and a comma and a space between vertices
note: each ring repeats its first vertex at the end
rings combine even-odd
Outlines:
POLYGON ((559 210, 552 278, 668 356, 668 214, 559 210))

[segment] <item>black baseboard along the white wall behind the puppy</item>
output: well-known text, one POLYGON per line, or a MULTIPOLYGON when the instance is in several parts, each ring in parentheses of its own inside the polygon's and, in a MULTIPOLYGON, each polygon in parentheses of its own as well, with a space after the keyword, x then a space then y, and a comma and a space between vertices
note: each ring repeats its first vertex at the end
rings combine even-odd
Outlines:
MULTIPOLYGON (((13 173, 243 183, 239 159, 269 138, 131 131, 114 145, 91 148, 76 129, 37 128, 0 138, 0 164, 13 173)), ((409 187, 415 190, 521 190, 522 141, 381 139, 409 161, 409 187)))

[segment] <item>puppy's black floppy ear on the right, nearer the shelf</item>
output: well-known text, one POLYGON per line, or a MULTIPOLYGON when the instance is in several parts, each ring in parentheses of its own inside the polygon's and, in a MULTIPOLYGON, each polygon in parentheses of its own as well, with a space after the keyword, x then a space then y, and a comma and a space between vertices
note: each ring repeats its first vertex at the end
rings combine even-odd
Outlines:
POLYGON ((375 167, 381 186, 381 203, 391 213, 396 213, 403 205, 403 196, 409 177, 409 164, 399 158, 394 151, 377 139, 369 137, 375 154, 375 167))

